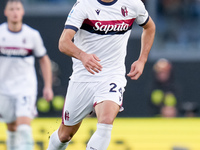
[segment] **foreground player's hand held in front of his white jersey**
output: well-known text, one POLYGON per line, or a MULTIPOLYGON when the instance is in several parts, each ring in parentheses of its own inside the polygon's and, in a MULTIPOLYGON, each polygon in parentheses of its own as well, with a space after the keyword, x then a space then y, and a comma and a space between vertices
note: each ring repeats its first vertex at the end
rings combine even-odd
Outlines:
POLYGON ((87 54, 83 52, 81 54, 81 62, 88 72, 91 74, 99 73, 102 70, 102 66, 100 65, 100 59, 95 54, 87 54))

